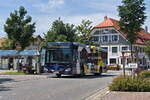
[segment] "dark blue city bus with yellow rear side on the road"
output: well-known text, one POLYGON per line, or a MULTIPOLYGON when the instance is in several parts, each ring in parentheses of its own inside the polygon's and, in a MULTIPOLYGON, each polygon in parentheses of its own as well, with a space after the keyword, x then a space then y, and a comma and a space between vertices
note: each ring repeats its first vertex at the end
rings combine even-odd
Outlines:
MULTIPOLYGON (((61 75, 101 74, 105 63, 101 54, 106 53, 95 46, 75 42, 48 42, 41 51, 41 64, 47 72, 61 75)), ((105 58, 107 59, 107 58, 105 58)))

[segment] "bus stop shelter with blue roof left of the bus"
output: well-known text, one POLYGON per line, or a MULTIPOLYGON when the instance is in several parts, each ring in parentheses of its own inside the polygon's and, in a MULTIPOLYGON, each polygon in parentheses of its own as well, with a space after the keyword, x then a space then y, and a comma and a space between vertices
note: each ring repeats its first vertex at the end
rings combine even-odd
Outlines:
POLYGON ((38 50, 0 50, 0 69, 8 70, 11 63, 13 69, 16 70, 20 62, 24 65, 30 65, 37 70, 37 67, 39 67, 39 56, 38 50))

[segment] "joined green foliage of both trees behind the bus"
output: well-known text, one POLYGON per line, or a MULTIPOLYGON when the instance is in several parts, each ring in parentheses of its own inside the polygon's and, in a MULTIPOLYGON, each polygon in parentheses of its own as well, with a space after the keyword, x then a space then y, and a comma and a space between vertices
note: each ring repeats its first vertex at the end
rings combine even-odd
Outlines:
POLYGON ((73 24, 65 24, 60 18, 52 23, 52 27, 45 34, 45 41, 41 46, 47 42, 79 42, 83 44, 92 44, 91 42, 91 21, 83 20, 82 23, 75 27, 73 24))

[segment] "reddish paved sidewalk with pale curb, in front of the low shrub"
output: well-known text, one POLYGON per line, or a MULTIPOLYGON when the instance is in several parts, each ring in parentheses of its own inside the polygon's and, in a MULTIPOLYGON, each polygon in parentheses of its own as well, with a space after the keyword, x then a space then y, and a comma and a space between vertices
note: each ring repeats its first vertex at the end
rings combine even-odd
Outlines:
POLYGON ((114 92, 105 88, 85 100, 150 100, 150 92, 114 92))

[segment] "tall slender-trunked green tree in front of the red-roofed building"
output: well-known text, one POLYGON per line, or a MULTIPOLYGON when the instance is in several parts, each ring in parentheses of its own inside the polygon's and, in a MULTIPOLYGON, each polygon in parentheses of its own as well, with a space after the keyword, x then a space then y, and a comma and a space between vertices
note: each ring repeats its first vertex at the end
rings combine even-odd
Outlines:
POLYGON ((127 34, 127 39, 131 46, 131 56, 133 61, 132 45, 137 39, 138 32, 146 19, 144 0, 122 0, 122 5, 118 7, 120 16, 121 31, 127 34))

